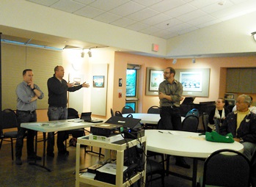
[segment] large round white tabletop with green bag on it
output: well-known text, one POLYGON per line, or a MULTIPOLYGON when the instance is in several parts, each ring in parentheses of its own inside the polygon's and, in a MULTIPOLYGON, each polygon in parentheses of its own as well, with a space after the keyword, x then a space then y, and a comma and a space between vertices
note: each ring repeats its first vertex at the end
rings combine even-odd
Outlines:
POLYGON ((147 150, 168 155, 207 158, 216 150, 231 149, 242 152, 243 144, 208 142, 199 133, 167 130, 145 130, 147 150), (159 132, 160 131, 160 132, 159 132), (162 132, 162 133, 161 133, 162 132))

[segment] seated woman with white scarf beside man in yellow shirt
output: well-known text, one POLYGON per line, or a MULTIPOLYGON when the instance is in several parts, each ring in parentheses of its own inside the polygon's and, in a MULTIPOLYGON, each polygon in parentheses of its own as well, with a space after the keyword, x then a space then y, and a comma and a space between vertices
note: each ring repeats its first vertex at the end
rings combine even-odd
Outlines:
POLYGON ((224 108, 224 105, 224 98, 218 98, 218 100, 216 100, 216 108, 213 109, 209 114, 209 131, 216 130, 214 122, 215 119, 219 120, 219 124, 222 125, 222 122, 224 121, 225 117, 227 116, 228 113, 230 113, 228 109, 224 108))

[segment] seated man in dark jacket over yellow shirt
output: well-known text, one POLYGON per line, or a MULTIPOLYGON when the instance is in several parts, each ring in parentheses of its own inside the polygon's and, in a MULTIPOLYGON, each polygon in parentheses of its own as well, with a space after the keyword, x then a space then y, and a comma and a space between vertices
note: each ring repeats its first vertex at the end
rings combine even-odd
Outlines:
POLYGON ((249 95, 239 95, 236 111, 230 112, 222 123, 219 133, 232 133, 234 140, 244 145, 244 155, 251 161, 256 150, 256 114, 249 111, 252 102, 249 95))

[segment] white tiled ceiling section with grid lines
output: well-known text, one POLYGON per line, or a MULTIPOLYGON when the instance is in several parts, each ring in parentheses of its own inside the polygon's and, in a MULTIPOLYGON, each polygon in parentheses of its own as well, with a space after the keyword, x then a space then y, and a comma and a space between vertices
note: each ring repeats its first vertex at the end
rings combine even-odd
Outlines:
POLYGON ((256 11, 256 0, 26 0, 169 39, 256 11))

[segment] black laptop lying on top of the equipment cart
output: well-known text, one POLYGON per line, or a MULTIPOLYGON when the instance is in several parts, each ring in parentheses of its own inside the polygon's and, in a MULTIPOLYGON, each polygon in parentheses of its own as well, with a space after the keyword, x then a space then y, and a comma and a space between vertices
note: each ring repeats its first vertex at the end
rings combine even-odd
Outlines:
POLYGON ((112 116, 109 118, 109 120, 106 120, 105 123, 122 125, 123 128, 138 129, 138 128, 142 128, 142 125, 140 124, 140 120, 141 119, 136 119, 132 117, 112 116))

